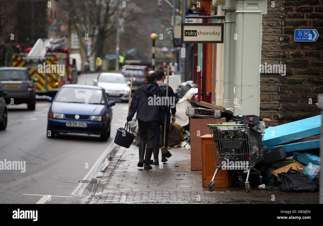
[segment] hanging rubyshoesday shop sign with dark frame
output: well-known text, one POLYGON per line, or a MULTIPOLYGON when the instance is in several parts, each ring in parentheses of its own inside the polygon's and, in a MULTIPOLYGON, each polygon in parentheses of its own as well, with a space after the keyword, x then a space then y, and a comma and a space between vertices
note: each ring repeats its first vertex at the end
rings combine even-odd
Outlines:
POLYGON ((223 43, 223 24, 182 23, 182 43, 223 43))

